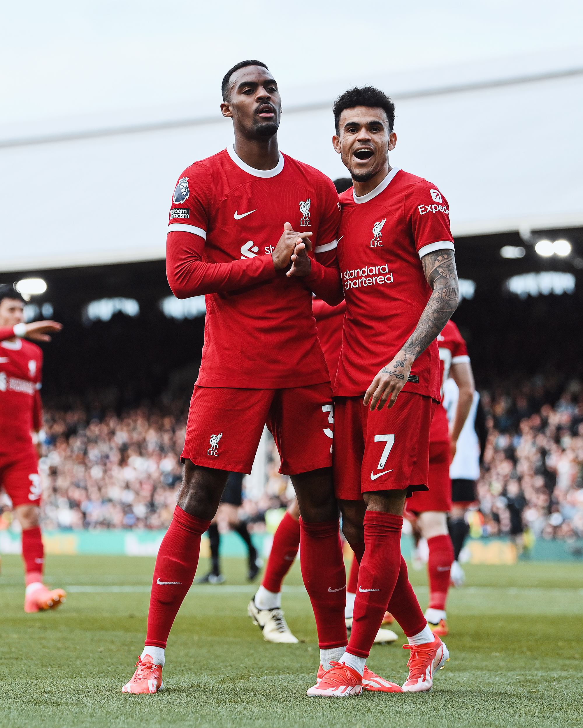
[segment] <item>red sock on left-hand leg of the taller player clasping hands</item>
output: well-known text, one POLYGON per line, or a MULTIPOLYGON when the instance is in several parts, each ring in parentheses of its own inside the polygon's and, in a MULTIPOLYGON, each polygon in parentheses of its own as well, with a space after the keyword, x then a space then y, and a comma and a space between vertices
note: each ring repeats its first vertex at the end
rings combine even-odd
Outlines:
POLYGON ((176 506, 154 566, 146 645, 165 647, 174 618, 192 585, 200 537, 211 525, 176 506))

